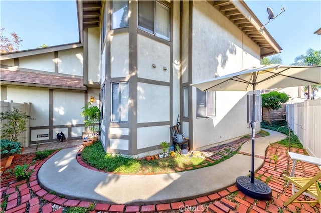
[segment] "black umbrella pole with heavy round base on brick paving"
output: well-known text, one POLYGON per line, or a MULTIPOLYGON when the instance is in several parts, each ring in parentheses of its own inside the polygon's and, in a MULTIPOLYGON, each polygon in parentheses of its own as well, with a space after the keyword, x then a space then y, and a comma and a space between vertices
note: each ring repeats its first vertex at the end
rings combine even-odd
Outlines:
MULTIPOLYGON (((253 73, 253 82, 256 82, 255 72, 253 73)), ((258 200, 270 200, 272 198, 272 190, 264 182, 254 179, 254 142, 255 142, 255 83, 253 85, 253 98, 252 98, 252 166, 250 177, 240 176, 236 178, 236 187, 245 195, 248 195, 258 200)))

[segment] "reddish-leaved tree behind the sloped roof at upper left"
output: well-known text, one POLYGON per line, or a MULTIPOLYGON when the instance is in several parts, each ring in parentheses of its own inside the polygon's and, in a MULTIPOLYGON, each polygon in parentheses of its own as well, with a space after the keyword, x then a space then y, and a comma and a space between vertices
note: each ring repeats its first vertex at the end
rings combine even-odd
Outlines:
POLYGON ((0 28, 0 53, 18 51, 22 45, 22 39, 15 33, 10 33, 10 37, 4 35, 5 28, 0 28))

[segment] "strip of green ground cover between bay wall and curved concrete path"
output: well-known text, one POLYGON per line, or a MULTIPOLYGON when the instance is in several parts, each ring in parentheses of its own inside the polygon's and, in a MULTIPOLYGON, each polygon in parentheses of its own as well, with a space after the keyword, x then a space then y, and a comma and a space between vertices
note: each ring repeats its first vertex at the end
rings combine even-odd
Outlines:
MULTIPOLYGON (((257 135, 264 137, 269 135, 266 131, 261 131, 257 135)), ((250 138, 244 136, 243 138, 250 138)), ((82 160, 90 166, 99 170, 121 174, 165 174, 184 170, 198 169, 201 167, 212 166, 226 159, 229 159, 241 148, 239 145, 236 149, 226 148, 222 151, 222 158, 211 160, 202 155, 180 155, 175 153, 174 157, 167 157, 152 161, 145 159, 135 159, 119 154, 110 154, 104 151, 100 142, 87 146, 82 150, 82 160)), ((220 154, 220 153, 218 153, 220 154)))

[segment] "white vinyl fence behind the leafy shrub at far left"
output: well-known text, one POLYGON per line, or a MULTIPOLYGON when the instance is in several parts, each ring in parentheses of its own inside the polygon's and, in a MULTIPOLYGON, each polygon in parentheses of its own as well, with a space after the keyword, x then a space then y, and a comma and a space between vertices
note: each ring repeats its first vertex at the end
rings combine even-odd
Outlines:
MULTIPOLYGON (((25 102, 25 103, 14 103, 13 101, 7 102, 7 101, 1 101, 0 102, 0 111, 6 112, 9 110, 18 109, 22 112, 25 112, 27 115, 30 115, 30 107, 31 103, 25 102)), ((3 120, 0 123, 1 129, 2 125, 7 123, 7 120, 3 120)), ((29 120, 27 120, 26 124, 26 131, 23 132, 20 137, 18 138, 18 141, 23 145, 24 147, 29 146, 29 120)))

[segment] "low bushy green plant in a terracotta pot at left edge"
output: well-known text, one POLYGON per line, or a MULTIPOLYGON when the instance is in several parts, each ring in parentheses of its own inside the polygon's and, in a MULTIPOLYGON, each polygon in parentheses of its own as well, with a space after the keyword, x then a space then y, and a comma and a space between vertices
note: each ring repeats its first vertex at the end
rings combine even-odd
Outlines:
POLYGON ((0 161, 1 168, 8 168, 15 154, 21 154, 21 144, 18 141, 8 139, 0 140, 0 161))

